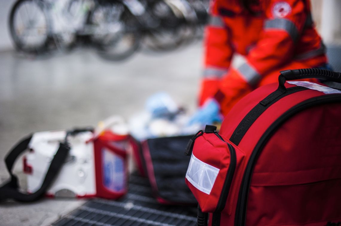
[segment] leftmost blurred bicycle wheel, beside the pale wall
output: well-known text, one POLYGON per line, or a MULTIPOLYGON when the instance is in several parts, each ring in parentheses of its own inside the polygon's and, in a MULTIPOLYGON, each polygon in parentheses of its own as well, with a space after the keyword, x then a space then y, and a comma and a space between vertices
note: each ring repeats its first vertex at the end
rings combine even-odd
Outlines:
POLYGON ((50 24, 39 0, 19 0, 10 13, 9 27, 15 47, 27 53, 44 52, 50 24))

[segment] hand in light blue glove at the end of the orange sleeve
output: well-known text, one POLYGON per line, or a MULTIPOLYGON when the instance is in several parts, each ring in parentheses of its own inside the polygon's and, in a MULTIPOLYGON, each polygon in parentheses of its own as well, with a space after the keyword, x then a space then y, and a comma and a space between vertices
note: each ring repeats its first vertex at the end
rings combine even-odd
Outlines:
POLYGON ((194 115, 190 118, 188 125, 209 125, 213 122, 221 122, 222 118, 219 103, 215 99, 211 98, 206 100, 204 105, 194 113, 194 115))

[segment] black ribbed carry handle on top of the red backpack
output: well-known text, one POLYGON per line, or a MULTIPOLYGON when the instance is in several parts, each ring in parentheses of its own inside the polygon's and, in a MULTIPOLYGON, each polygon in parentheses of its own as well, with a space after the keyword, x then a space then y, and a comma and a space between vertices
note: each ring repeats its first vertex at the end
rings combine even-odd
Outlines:
POLYGON ((278 77, 279 87, 283 91, 286 90, 284 83, 287 80, 297 79, 323 79, 332 82, 341 83, 341 73, 328 71, 320 68, 306 68, 296 70, 280 71, 281 75, 278 77))

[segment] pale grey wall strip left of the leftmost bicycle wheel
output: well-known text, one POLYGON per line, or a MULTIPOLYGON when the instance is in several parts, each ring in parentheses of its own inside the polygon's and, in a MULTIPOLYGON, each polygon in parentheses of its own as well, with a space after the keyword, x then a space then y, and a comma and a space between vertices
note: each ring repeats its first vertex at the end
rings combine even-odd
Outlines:
POLYGON ((8 19, 14 2, 15 0, 0 0, 0 51, 13 49, 8 30, 8 19))

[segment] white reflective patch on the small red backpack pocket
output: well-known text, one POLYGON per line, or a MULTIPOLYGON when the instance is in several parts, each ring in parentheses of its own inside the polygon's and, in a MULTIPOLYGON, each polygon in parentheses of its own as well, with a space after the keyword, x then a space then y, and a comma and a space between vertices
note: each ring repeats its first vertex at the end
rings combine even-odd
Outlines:
POLYGON ((218 168, 197 159, 192 153, 186 178, 194 187, 209 195, 218 173, 218 168))

